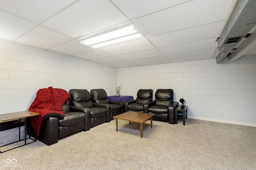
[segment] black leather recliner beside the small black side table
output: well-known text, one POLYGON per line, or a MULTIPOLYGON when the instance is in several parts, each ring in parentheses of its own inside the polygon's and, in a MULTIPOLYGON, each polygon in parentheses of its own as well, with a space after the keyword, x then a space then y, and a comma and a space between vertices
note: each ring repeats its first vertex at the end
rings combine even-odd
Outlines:
POLYGON ((148 105, 148 113, 155 114, 153 120, 175 124, 175 108, 178 105, 178 102, 173 102, 172 89, 158 89, 154 102, 148 105))

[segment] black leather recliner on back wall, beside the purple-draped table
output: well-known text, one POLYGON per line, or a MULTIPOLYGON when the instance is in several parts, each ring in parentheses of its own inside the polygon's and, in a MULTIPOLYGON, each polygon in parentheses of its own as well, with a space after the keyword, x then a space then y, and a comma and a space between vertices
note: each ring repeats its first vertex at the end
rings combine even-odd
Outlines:
POLYGON ((124 112, 126 111, 138 111, 148 113, 148 104, 153 99, 153 90, 152 89, 140 89, 137 92, 136 100, 130 100, 124 102, 124 112))

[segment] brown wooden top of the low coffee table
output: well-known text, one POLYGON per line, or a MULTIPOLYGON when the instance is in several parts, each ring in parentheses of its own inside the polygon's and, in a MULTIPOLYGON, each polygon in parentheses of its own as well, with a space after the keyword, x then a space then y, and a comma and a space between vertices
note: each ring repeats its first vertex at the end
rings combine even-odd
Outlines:
POLYGON ((113 118, 114 119, 122 119, 122 120, 127 120, 127 121, 132 121, 136 123, 144 123, 151 117, 153 117, 154 114, 151 113, 141 113, 141 112, 136 112, 136 111, 127 111, 125 113, 122 113, 120 115, 116 115, 113 118))

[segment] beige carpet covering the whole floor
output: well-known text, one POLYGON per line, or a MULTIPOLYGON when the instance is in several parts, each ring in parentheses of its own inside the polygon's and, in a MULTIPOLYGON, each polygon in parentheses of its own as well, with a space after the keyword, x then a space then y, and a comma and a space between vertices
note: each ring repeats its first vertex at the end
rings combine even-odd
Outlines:
POLYGON ((37 141, 0 154, 0 169, 256 169, 256 127, 186 119, 186 125, 118 120, 57 144, 37 141), (16 159, 16 164, 6 160, 16 159))

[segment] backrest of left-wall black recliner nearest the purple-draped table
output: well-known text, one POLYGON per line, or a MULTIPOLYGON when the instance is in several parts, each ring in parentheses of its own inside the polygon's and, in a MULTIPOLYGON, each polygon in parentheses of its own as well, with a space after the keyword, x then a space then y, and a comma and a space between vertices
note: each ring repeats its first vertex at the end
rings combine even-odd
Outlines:
POLYGON ((109 104, 107 92, 104 89, 92 89, 90 91, 92 102, 109 104))

